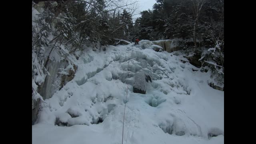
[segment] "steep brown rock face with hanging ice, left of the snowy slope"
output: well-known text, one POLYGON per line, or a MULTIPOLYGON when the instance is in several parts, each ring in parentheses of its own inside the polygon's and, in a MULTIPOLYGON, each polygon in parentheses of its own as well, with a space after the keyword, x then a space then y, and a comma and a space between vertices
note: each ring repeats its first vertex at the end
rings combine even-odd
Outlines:
MULTIPOLYGON (((49 60, 45 68, 50 73, 50 76, 46 76, 44 83, 38 86, 38 93, 44 100, 51 98, 56 90, 60 90, 67 82, 72 80, 77 70, 77 66, 72 66, 66 60, 61 62, 49 60)), ((32 100, 32 124, 36 122, 40 102, 40 99, 32 100)))

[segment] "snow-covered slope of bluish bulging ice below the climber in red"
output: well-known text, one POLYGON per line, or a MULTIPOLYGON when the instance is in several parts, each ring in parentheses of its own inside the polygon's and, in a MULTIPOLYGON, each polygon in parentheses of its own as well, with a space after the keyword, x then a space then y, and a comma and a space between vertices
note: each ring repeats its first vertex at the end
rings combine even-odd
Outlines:
POLYGON ((121 144, 128 86, 124 144, 224 144, 224 92, 179 53, 129 44, 80 54, 74 79, 42 103, 32 143, 121 144), (132 92, 138 72, 152 79, 146 94, 132 92))

